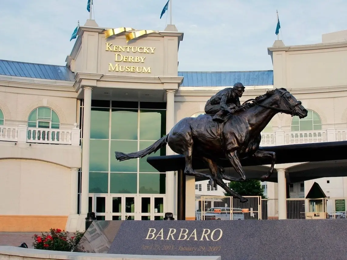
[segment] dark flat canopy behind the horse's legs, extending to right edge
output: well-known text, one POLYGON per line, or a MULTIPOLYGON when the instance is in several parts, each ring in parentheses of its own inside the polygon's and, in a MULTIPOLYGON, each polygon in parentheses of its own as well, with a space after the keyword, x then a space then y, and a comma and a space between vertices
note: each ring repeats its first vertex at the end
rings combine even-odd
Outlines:
MULTIPOLYGON (((260 150, 275 152, 276 164, 305 163, 287 169, 290 182, 312 180, 320 177, 347 176, 347 141, 268 146, 261 147, 260 150)), ((183 155, 152 156, 147 158, 147 162, 159 172, 178 171, 185 167, 183 155)), ((221 158, 217 163, 219 166, 226 168, 226 174, 238 176, 227 159, 221 158)), ((268 171, 268 167, 260 165, 269 165, 271 160, 246 158, 241 163, 247 178, 260 180, 264 172, 268 171)), ((193 168, 206 171, 207 167, 204 162, 193 158, 193 168)), ((204 179, 196 178, 195 180, 201 181, 204 179)), ((277 173, 274 172, 267 181, 277 182, 277 173)))

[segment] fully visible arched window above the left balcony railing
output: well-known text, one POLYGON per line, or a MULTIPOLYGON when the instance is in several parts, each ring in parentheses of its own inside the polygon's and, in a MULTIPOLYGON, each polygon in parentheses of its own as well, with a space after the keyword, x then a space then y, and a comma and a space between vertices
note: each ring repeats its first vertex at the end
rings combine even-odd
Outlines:
POLYGON ((37 107, 29 115, 28 127, 59 129, 59 117, 57 113, 49 107, 37 107))

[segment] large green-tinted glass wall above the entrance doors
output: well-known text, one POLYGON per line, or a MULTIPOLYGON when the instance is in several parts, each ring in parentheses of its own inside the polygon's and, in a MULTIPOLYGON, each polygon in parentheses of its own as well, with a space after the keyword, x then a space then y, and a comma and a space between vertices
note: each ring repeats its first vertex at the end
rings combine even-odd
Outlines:
MULTIPOLYGON (((115 157, 115 151, 139 151, 165 135, 166 103, 92 100, 89 192, 165 194, 166 173, 148 164, 147 156, 115 157)), ((165 154, 163 147, 150 156, 165 154)))

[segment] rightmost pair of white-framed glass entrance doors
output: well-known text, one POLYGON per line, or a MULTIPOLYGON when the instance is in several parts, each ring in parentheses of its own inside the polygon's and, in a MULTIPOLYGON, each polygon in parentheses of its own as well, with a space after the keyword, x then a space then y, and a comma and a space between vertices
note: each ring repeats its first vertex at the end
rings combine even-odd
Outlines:
POLYGON ((140 219, 162 220, 165 215, 164 196, 140 195, 140 219))

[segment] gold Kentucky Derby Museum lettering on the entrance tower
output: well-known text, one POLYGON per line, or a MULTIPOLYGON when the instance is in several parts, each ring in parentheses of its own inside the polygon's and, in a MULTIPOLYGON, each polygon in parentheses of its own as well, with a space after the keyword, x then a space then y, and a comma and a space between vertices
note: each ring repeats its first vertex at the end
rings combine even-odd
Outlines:
MULTIPOLYGON (((137 47, 137 46, 118 46, 112 43, 106 43, 106 51, 122 52, 115 53, 115 62, 131 62, 131 63, 144 63, 145 56, 132 56, 131 53, 154 53, 155 47, 137 47), (129 54, 127 54, 127 52, 129 54)), ((138 72, 138 73, 151 73, 151 67, 144 66, 126 66, 119 63, 109 63, 108 71, 117 72, 138 72)))

